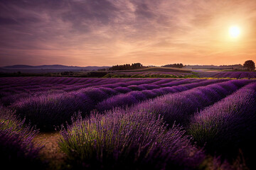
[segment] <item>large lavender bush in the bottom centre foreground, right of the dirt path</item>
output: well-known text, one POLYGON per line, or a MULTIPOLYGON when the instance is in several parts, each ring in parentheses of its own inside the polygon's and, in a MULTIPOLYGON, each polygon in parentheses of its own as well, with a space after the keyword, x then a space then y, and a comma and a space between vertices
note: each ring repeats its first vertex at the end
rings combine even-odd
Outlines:
POLYGON ((60 131, 59 146, 73 169, 194 169, 204 154, 184 133, 131 108, 78 116, 60 131))

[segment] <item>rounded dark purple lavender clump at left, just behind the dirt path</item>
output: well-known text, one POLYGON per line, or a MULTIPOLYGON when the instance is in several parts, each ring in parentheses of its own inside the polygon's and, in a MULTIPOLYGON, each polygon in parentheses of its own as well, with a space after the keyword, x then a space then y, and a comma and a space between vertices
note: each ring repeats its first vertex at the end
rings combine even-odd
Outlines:
POLYGON ((48 131, 70 120, 75 112, 87 113, 92 108, 91 103, 85 94, 67 93, 26 98, 10 108, 41 130, 48 131))

